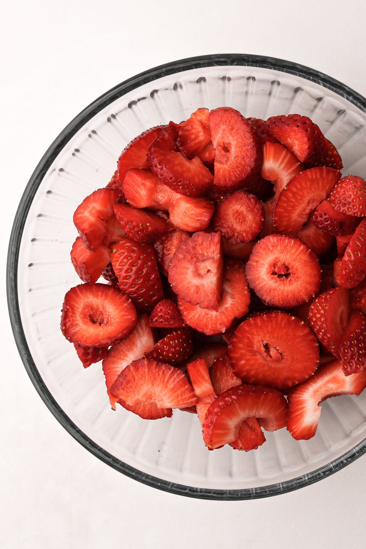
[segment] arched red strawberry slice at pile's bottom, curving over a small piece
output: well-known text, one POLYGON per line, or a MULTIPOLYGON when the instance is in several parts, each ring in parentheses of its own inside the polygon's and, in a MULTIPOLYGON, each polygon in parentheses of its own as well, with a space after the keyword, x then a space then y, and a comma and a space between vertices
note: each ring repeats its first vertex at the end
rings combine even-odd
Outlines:
POLYGON ((241 423, 255 417, 266 431, 286 425, 287 401, 275 389, 259 385, 238 385, 212 402, 207 410, 202 434, 213 450, 238 439, 241 423))

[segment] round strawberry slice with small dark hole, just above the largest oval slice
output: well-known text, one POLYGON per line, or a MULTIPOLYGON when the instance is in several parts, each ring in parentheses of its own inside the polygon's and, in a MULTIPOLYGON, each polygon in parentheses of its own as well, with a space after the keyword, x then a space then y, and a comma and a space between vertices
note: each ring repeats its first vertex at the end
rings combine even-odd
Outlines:
POLYGON ((247 281, 268 305, 295 307, 318 293, 316 255, 299 238, 270 234, 258 242, 246 264, 247 281))

